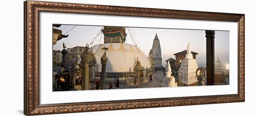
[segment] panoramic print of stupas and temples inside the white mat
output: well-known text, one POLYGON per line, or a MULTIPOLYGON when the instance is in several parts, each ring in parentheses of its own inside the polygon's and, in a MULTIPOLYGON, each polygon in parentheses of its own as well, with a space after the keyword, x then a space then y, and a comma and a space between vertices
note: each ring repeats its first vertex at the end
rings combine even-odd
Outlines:
MULTIPOLYGON (((214 37, 211 85, 229 85, 229 31, 214 37)), ((53 92, 207 83, 205 30, 53 24, 53 92)))

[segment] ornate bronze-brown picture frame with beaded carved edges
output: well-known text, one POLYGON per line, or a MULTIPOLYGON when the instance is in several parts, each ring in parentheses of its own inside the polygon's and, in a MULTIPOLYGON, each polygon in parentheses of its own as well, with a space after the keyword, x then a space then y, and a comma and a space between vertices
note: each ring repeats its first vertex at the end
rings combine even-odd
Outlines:
MULTIPOLYGON (((219 104, 245 101, 244 85, 244 14, 181 11, 124 6, 101 6, 45 1, 24 2, 24 115, 44 115, 102 110, 125 110, 197 104, 219 104), (150 98, 61 104, 40 104, 40 12, 60 12, 144 18, 172 18, 236 22, 238 27, 237 94, 150 98)), ((230 40, 232 41, 232 40, 230 40)), ((211 53, 208 53, 212 55, 211 53)), ((209 59, 208 59, 209 60, 209 59)))

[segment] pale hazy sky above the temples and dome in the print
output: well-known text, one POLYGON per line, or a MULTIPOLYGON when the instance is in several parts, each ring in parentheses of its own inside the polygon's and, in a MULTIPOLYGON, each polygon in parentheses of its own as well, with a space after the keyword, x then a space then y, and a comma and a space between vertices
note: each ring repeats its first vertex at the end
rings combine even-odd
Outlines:
MULTIPOLYGON (((58 29, 62 30, 62 34, 69 31, 74 25, 61 25, 58 29)), ((67 48, 75 46, 85 46, 90 43, 94 37, 99 33, 103 26, 84 26, 77 25, 69 31, 67 38, 62 38, 53 45, 54 50, 62 50, 62 43, 64 42, 67 48)), ((203 30, 181 30, 181 29, 156 29, 156 28, 132 28, 135 40, 140 43, 142 52, 148 57, 149 50, 152 48, 155 33, 160 40, 162 49, 162 62, 166 64, 165 60, 172 57, 173 54, 187 49, 188 43, 190 49, 197 52, 196 56, 199 67, 206 65, 206 38, 203 30)), ((133 44, 133 41, 127 33, 127 43, 133 44)), ((95 39, 94 43, 100 41, 100 36, 95 39)), ((103 43, 103 36, 101 43, 103 43)), ((229 63, 229 31, 215 31, 215 59, 219 56, 222 65, 229 63)))

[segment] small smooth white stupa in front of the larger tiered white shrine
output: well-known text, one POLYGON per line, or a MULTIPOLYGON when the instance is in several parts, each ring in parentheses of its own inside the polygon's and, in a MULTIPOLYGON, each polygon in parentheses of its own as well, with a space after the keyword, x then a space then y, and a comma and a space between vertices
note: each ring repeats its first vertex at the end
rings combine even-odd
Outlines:
POLYGON ((170 67, 169 61, 167 62, 167 69, 166 69, 166 75, 162 79, 162 86, 167 87, 177 87, 177 83, 175 83, 175 78, 171 76, 172 74, 172 69, 170 67))

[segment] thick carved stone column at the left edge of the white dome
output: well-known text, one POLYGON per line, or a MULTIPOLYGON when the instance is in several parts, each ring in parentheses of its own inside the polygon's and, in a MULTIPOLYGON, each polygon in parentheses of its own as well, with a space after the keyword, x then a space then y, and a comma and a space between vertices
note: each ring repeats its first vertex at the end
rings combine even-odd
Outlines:
POLYGON ((82 90, 89 90, 90 51, 89 51, 89 45, 88 44, 86 44, 85 50, 82 53, 82 62, 83 62, 83 68, 82 68, 81 89, 82 90))

